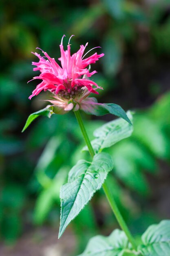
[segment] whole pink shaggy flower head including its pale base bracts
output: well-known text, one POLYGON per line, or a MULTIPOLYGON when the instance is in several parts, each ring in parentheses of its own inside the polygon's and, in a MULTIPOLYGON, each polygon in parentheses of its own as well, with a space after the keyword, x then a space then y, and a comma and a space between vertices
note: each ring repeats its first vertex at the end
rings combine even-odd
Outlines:
MULTIPOLYGON (((65 36, 65 35, 64 35, 65 36)), ((51 58, 46 52, 42 51, 44 56, 40 56, 38 53, 33 53, 39 58, 39 62, 33 62, 32 64, 37 66, 33 68, 33 71, 40 70, 40 76, 35 76, 34 79, 41 79, 42 82, 39 83, 35 90, 33 90, 29 99, 33 96, 38 95, 42 90, 49 90, 51 94, 51 99, 47 101, 51 102, 53 106, 58 108, 57 112, 63 114, 65 111, 73 109, 73 103, 70 103, 71 99, 74 102, 78 103, 76 108, 79 109, 79 106, 83 99, 88 97, 89 94, 95 93, 99 87, 95 82, 88 79, 93 74, 97 73, 96 71, 89 72, 90 64, 95 63, 99 60, 100 57, 104 54, 93 54, 88 58, 84 58, 84 50, 86 45, 81 45, 78 52, 71 55, 70 49, 70 39, 68 41, 67 50, 64 51, 63 48, 63 38, 60 44, 61 57, 61 67, 57 64, 54 58, 51 58), (64 111, 64 112, 63 112, 64 111)), ((95 47, 97 48, 97 47, 95 47)), ((93 48, 93 49, 95 49, 93 48)))

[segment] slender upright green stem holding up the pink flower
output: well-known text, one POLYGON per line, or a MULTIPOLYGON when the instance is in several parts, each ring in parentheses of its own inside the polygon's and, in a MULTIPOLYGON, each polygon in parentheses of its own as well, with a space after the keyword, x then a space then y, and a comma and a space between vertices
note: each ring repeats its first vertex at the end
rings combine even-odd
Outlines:
MULTIPOLYGON (((78 121, 78 124, 80 126, 80 129, 82 131, 82 134, 83 134, 83 137, 84 137, 84 140, 86 141, 86 145, 88 147, 88 150, 89 150, 89 153, 91 155, 91 157, 93 158, 94 155, 95 155, 95 152, 93 150, 93 147, 91 145, 91 142, 88 138, 88 135, 87 135, 87 132, 86 132, 86 129, 84 127, 84 124, 83 124, 83 120, 82 120, 82 117, 80 115, 80 112, 79 110, 75 111, 75 116, 77 118, 77 121, 78 121)), ((124 230, 126 236, 128 237, 128 240, 130 241, 130 243, 132 244, 132 247, 133 249, 135 249, 135 251, 137 250, 137 245, 135 243, 135 239, 132 237, 123 217, 121 216, 121 213, 117 207, 117 204, 115 202, 115 199, 113 198, 113 194, 111 193, 110 189, 109 189, 109 186, 107 185, 107 183, 105 182, 103 184, 103 189, 104 189, 104 193, 106 195, 106 198, 110 204, 110 207, 111 209, 113 210, 113 213, 115 214, 115 217, 117 219, 117 222, 119 223, 120 227, 122 230, 124 230)))

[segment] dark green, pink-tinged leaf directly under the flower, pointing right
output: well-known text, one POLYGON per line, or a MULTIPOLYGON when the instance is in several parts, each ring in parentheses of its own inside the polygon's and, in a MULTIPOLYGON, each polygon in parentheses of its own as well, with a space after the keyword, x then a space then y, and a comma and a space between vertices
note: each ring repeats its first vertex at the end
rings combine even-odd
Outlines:
POLYGON ((97 103, 97 99, 94 97, 86 98, 82 101, 80 108, 89 115, 103 116, 106 114, 112 114, 117 117, 121 117, 129 124, 132 124, 126 115, 126 112, 121 106, 113 103, 97 103))

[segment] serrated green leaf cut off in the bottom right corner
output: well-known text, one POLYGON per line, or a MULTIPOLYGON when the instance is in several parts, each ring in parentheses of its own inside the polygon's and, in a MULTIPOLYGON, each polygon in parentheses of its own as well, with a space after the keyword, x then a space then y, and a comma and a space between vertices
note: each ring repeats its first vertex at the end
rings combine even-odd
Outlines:
POLYGON ((144 245, 139 251, 144 256, 170 255, 170 220, 163 220, 158 225, 151 225, 142 235, 144 245))

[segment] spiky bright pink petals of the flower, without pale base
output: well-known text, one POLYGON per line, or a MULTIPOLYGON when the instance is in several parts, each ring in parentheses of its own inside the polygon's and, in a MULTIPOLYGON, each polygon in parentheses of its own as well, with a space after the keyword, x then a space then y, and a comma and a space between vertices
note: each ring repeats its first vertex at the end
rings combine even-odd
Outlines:
MULTIPOLYGON (((62 37, 63 41, 64 36, 62 37)), ((39 58, 39 62, 33 62, 32 64, 36 67, 33 68, 34 71, 40 70, 40 76, 35 76, 33 79, 42 80, 32 92, 29 99, 33 96, 38 95, 42 90, 50 90, 54 94, 76 94, 79 89, 86 87, 89 92, 98 94, 96 91, 99 86, 88 79, 96 71, 89 72, 88 66, 99 60, 104 54, 93 54, 88 58, 84 58, 84 50, 87 44, 81 45, 80 49, 71 55, 70 40, 67 45, 67 50, 64 51, 63 43, 61 41, 60 51, 61 57, 59 61, 61 66, 57 64, 54 58, 51 58, 46 52, 42 51, 44 56, 40 56, 38 53, 33 53, 39 58), (95 87, 95 88, 94 88, 95 87)))

